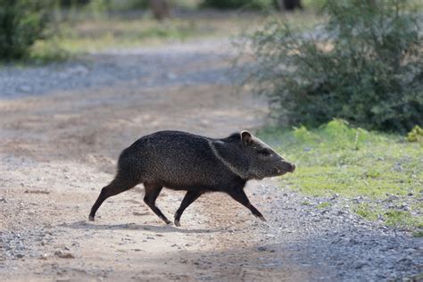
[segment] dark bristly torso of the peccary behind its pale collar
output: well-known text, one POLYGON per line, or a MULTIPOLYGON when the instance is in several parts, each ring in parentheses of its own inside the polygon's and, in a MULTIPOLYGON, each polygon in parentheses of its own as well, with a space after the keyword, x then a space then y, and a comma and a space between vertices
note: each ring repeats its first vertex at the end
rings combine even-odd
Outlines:
POLYGON ((121 153, 119 170, 140 182, 173 188, 225 185, 234 176, 211 151, 209 140, 179 131, 153 133, 121 153))

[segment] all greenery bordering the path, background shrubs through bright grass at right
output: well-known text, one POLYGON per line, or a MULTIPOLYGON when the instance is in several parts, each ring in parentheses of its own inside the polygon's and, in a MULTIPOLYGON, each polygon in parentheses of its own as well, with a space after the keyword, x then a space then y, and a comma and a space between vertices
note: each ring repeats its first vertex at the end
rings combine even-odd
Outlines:
POLYGON ((0 0, 0 22, 6 63, 236 38, 276 121, 259 134, 298 165, 284 181, 423 235, 423 1, 0 0))

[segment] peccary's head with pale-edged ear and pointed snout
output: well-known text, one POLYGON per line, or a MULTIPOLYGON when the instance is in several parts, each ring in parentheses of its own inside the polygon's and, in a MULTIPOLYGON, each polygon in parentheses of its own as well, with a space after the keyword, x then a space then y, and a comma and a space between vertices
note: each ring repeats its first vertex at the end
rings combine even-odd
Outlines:
POLYGON ((248 178, 262 179, 294 172, 295 165, 286 162, 270 145, 265 144, 248 131, 242 131, 241 143, 248 160, 248 178))

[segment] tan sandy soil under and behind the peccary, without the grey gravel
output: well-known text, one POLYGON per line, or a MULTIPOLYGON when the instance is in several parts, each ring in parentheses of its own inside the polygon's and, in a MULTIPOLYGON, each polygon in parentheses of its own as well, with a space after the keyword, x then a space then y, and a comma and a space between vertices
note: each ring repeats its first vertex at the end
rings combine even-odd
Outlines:
MULTIPOLYGON (((262 238, 251 226, 262 223, 226 195, 203 196, 184 213, 182 228, 175 228, 149 211, 140 186, 109 199, 95 223, 87 222, 100 189, 112 180, 118 154, 137 137, 160 129, 225 137, 259 127, 265 113, 262 101, 225 86, 140 91, 120 85, 2 101, 0 227, 10 239, 2 277, 307 277, 288 269, 261 270, 263 254, 256 245, 262 238)), ((158 204, 171 215, 182 196, 165 190, 158 204)))

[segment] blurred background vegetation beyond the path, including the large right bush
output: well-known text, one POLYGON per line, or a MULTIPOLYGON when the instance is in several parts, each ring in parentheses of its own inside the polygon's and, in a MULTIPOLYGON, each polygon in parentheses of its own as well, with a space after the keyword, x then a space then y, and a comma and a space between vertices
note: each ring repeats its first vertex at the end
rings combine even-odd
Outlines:
POLYGON ((242 33, 239 51, 255 63, 244 83, 270 98, 279 124, 316 127, 341 118, 406 133, 423 120, 422 6, 415 0, 0 0, 0 58, 48 62, 242 33))

